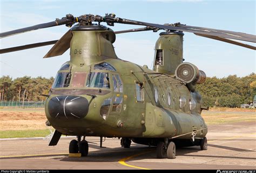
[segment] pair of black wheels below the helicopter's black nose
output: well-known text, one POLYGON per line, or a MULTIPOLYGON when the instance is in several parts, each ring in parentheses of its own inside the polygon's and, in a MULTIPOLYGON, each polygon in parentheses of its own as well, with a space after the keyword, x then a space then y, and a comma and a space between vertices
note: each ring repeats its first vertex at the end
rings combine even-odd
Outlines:
POLYGON ((81 156, 87 156, 88 155, 88 142, 84 139, 81 141, 81 136, 77 137, 77 140, 72 140, 69 143, 69 153, 81 153, 81 156))

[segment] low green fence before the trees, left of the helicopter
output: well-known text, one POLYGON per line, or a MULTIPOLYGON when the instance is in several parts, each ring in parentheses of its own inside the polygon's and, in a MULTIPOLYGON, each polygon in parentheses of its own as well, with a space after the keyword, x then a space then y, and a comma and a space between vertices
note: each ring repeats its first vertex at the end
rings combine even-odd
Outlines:
POLYGON ((0 101, 0 106, 8 106, 8 107, 44 107, 45 101, 29 101, 29 102, 12 102, 10 101, 0 101))

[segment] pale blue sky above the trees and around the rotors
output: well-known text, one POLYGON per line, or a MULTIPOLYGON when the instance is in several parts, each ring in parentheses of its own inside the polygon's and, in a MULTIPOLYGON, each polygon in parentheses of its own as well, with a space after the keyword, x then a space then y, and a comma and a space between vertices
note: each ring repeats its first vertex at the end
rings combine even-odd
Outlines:
MULTIPOLYGON (((117 17, 149 23, 176 23, 202 26, 255 35, 255 1, 4 1, 1 0, 1 32, 46 23, 67 13, 80 16, 91 13, 104 16, 115 13, 117 17)), ((104 24, 105 25, 105 24, 104 24)), ((114 31, 141 26, 116 24, 114 31)), ((14 35, 1 39, 1 48, 56 40, 68 31, 57 26, 14 35)), ((159 33, 152 31, 118 34, 114 47, 120 59, 151 67, 154 44, 159 33)), ((251 44, 251 43, 248 43, 251 44)), ((252 44, 255 46, 255 44, 252 44)), ((52 46, 1 54, 0 76, 13 78, 24 75, 55 77, 59 67, 69 61, 69 50, 57 57, 42 57, 52 46), (11 66, 11 67, 10 67, 11 66)), ((184 35, 184 59, 204 70, 207 76, 246 76, 256 73, 255 51, 217 40, 184 35)))

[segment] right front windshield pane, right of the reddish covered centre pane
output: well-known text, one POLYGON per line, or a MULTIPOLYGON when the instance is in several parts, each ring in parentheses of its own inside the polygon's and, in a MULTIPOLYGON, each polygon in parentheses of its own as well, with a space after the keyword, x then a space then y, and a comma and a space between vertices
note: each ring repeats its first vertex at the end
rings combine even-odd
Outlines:
POLYGON ((93 88, 110 88, 109 73, 91 72, 88 75, 86 86, 93 88))

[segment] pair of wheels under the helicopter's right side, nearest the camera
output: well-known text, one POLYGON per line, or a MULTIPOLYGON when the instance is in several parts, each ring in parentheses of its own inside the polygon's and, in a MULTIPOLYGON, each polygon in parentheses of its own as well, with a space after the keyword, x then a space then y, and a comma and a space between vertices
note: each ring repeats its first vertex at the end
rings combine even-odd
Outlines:
POLYGON ((159 141, 157 143, 157 158, 175 158, 176 157, 176 146, 174 142, 169 142, 168 139, 165 141, 159 141))

